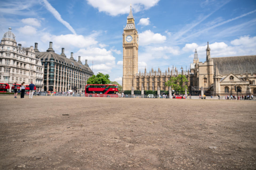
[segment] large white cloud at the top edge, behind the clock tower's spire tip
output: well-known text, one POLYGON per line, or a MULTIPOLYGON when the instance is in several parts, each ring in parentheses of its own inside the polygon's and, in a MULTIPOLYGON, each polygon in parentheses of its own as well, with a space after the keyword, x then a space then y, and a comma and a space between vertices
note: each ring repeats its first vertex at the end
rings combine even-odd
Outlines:
POLYGON ((116 16, 127 14, 130 11, 130 3, 135 12, 149 9, 157 5, 160 0, 130 0, 130 1, 113 1, 113 0, 87 0, 88 4, 97 8, 99 12, 106 12, 109 15, 116 16))

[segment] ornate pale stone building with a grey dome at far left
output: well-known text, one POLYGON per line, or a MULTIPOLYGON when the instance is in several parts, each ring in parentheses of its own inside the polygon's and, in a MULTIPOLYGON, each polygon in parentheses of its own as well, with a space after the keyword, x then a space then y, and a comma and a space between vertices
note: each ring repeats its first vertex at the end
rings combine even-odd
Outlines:
POLYGON ((17 46, 15 35, 9 28, 0 44, 0 82, 9 83, 11 88, 14 82, 30 84, 30 81, 33 81, 37 90, 42 90, 43 66, 35 57, 33 46, 17 46))

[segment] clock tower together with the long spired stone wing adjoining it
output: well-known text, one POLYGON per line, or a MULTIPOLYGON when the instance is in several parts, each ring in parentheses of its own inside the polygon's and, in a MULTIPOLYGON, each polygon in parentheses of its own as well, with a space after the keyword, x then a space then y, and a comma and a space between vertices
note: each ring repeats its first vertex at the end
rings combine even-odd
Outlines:
MULTIPOLYGON (((134 90, 141 90, 143 86, 144 90, 157 90, 157 87, 160 87, 160 90, 166 90, 165 82, 167 82, 170 77, 177 76, 182 74, 178 72, 178 69, 168 68, 168 72, 154 71, 153 69, 146 73, 138 73, 138 32, 135 28, 134 18, 132 11, 127 17, 127 23, 123 29, 123 90, 131 90, 131 87, 134 87, 134 90)), ((183 75, 186 75, 189 78, 189 72, 184 71, 183 75)), ((189 82, 186 83, 189 85, 189 82)))

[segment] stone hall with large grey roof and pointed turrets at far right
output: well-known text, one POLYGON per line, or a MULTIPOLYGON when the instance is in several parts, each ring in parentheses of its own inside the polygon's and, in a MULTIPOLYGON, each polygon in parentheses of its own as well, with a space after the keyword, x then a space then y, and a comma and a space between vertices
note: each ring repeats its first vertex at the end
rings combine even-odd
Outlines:
POLYGON ((206 61, 199 62, 195 50, 190 65, 191 94, 199 95, 204 88, 206 95, 256 95, 256 56, 211 58, 209 43, 206 48, 206 61), (235 89, 236 87, 236 89, 235 89))

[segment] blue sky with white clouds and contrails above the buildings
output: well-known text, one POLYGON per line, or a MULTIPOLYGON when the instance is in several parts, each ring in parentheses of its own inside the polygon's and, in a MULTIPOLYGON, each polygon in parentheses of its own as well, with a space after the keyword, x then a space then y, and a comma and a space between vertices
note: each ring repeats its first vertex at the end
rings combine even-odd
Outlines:
POLYGON ((133 7, 139 33, 139 70, 189 69, 197 48, 200 62, 211 57, 256 54, 255 0, 84 0, 1 1, 0 32, 12 32, 24 47, 38 43, 122 82, 123 26, 133 7))

